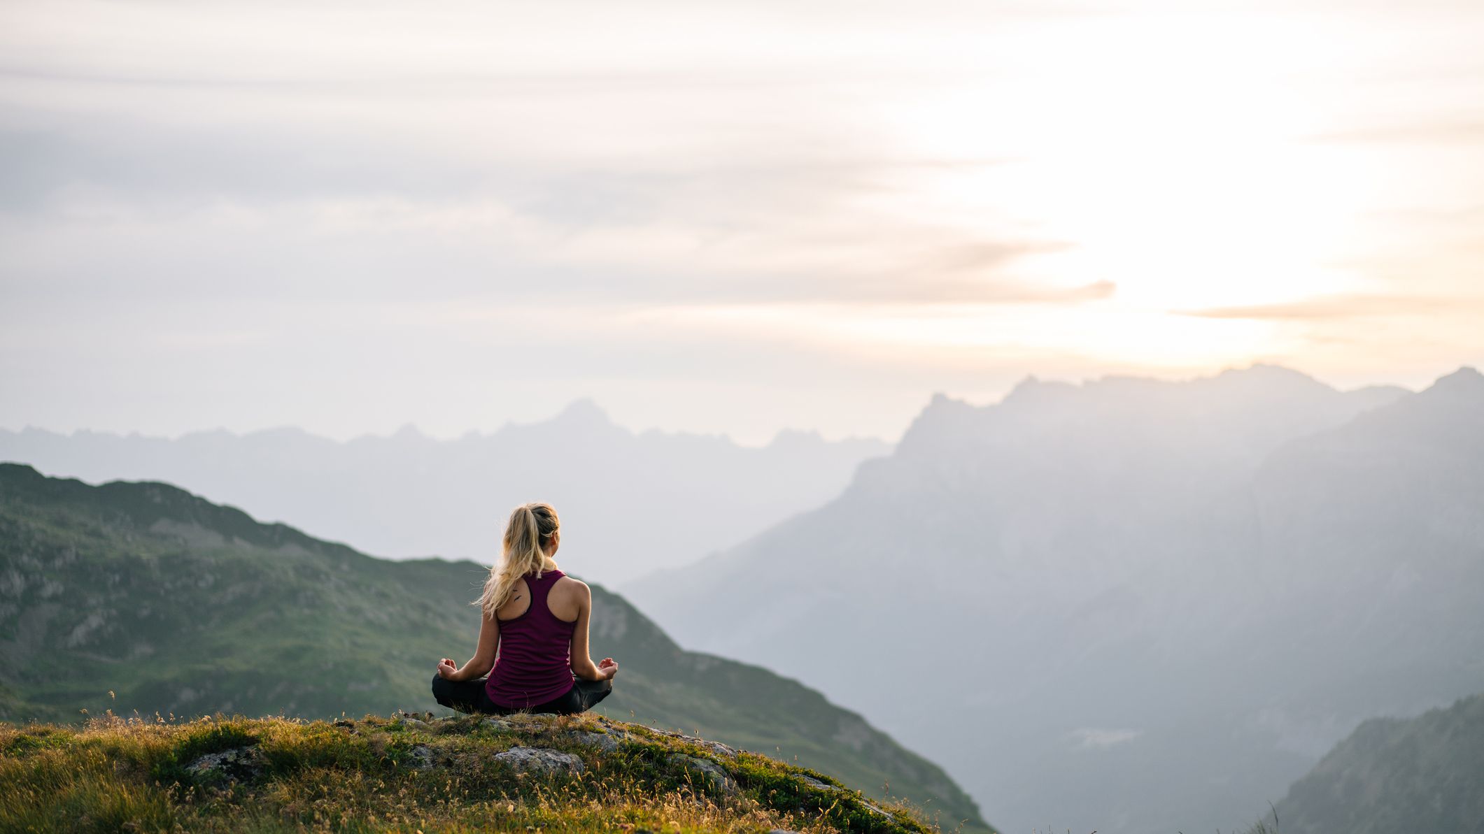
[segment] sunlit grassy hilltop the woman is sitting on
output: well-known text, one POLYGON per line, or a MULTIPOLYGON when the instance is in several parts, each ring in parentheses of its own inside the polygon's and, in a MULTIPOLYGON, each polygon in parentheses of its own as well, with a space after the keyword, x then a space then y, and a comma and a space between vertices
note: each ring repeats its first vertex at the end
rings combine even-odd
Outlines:
POLYGON ((598 715, 410 721, 105 715, 0 724, 0 831, 938 831, 922 812, 752 754, 598 715), (574 733, 620 739, 601 751, 574 733), (513 746, 577 755, 579 775, 521 773, 513 746), (234 776, 202 755, 246 751, 234 776), (723 785, 695 772, 718 766, 723 785))

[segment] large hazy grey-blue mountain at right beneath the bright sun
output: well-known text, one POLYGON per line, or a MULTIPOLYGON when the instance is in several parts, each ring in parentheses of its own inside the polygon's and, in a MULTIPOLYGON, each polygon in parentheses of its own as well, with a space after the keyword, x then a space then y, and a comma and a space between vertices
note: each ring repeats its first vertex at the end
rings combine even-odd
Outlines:
POLYGON ((1006 830, 1232 830, 1361 720, 1484 690, 1484 377, 938 396, 834 502, 625 591, 1006 830))

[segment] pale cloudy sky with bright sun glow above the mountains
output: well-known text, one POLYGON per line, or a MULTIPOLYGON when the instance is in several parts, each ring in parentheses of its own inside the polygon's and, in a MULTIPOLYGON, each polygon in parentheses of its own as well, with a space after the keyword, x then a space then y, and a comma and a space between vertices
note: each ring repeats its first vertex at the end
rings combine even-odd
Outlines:
POLYGON ((0 3, 0 427, 1484 365, 1484 4, 0 3))

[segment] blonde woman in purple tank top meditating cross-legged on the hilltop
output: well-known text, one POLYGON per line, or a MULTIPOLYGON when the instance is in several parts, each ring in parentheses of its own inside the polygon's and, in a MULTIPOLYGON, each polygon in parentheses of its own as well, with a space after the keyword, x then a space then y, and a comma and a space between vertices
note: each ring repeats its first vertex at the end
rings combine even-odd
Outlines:
POLYGON ((619 665, 613 657, 594 665, 588 656, 592 591, 552 559, 561 546, 558 524, 551 505, 510 513, 505 554, 475 601, 484 613, 479 647, 463 666, 448 657, 438 662, 438 703, 460 712, 570 714, 613 692, 619 665))

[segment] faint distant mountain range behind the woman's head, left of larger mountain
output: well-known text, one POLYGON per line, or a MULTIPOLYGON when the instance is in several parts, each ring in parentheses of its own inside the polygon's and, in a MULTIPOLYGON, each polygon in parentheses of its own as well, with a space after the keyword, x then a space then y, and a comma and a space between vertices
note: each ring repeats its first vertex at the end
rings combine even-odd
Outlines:
POLYGON ((186 484, 258 518, 390 558, 490 562, 510 508, 545 500, 562 551, 622 582, 695 561, 800 510, 890 447, 781 432, 761 448, 723 436, 629 432, 588 399, 534 424, 438 441, 407 427, 347 442, 276 429, 177 439, 0 430, 0 460, 49 475, 186 484))

